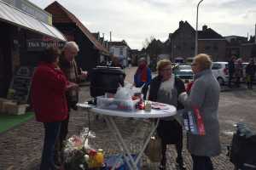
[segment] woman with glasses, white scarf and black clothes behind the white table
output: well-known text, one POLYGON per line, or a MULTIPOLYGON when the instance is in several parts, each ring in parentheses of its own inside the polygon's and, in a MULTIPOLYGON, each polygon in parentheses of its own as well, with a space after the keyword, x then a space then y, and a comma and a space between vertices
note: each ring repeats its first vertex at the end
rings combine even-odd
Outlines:
MULTIPOLYGON (((168 105, 174 105, 178 110, 183 105, 177 101, 179 94, 185 92, 184 82, 172 74, 172 62, 169 59, 160 60, 157 64, 158 76, 150 83, 148 99, 168 105)), ((157 133, 162 139, 162 158, 160 170, 166 169, 166 145, 175 144, 177 150, 176 162, 181 169, 186 169, 183 164, 183 127, 174 116, 160 118, 157 133)))

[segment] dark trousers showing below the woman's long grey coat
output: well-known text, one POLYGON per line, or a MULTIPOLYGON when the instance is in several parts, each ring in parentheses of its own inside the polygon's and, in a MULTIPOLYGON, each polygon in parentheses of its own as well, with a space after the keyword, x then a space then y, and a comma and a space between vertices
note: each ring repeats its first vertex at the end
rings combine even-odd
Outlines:
POLYGON ((193 170, 213 170, 211 157, 195 155, 191 156, 193 159, 193 170))

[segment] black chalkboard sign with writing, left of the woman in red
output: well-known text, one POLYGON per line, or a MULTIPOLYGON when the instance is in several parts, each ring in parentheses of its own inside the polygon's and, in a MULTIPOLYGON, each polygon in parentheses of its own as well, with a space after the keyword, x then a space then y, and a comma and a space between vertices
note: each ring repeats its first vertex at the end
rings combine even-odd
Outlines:
POLYGON ((12 78, 8 98, 31 103, 31 82, 35 67, 19 66, 15 67, 15 76, 12 78), (11 93, 10 91, 15 91, 11 93))

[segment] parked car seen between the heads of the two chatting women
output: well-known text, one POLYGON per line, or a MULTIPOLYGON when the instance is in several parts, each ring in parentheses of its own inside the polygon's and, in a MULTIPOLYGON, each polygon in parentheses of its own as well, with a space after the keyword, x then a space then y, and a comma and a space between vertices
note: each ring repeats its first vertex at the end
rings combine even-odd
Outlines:
POLYGON ((175 65, 172 73, 180 78, 193 78, 193 71, 190 65, 175 65))

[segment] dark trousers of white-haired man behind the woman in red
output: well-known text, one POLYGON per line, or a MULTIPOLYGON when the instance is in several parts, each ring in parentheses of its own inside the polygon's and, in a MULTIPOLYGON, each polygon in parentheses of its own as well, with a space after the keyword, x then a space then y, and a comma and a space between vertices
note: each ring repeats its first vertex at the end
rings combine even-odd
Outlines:
POLYGON ((55 144, 55 156, 59 156, 59 153, 61 152, 61 150, 63 148, 62 143, 67 138, 68 122, 69 122, 69 111, 67 111, 67 118, 61 122, 59 139, 57 140, 57 143, 55 144))

